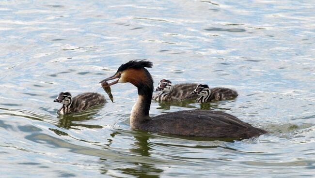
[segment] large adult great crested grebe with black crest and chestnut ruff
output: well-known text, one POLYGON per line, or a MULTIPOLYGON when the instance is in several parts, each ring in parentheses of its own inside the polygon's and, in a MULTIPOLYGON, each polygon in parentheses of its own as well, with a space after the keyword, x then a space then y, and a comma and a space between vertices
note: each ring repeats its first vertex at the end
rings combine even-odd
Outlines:
POLYGON ((184 110, 150 117, 149 110, 154 87, 152 76, 145 67, 151 68, 152 65, 152 62, 147 60, 130 60, 122 64, 113 76, 100 82, 103 84, 117 79, 102 86, 109 87, 117 83, 129 82, 138 88, 138 99, 130 114, 132 129, 159 134, 236 139, 251 138, 267 133, 221 111, 184 110))

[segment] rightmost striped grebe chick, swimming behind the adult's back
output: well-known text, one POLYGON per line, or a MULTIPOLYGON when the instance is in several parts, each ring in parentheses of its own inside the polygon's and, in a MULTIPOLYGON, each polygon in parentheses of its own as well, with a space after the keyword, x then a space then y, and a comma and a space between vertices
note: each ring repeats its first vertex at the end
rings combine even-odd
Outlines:
POLYGON ((191 94, 197 94, 200 97, 196 100, 197 103, 206 103, 211 101, 228 100, 238 96, 233 89, 216 87, 210 89, 208 85, 200 84, 191 94))

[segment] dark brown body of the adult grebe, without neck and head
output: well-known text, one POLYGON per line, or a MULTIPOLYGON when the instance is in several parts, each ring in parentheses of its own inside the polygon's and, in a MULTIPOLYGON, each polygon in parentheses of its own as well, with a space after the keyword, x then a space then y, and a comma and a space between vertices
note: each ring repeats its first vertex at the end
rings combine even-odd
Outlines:
POLYGON ((237 138, 265 133, 230 114, 210 110, 185 110, 158 115, 143 124, 142 129, 160 134, 237 138))

